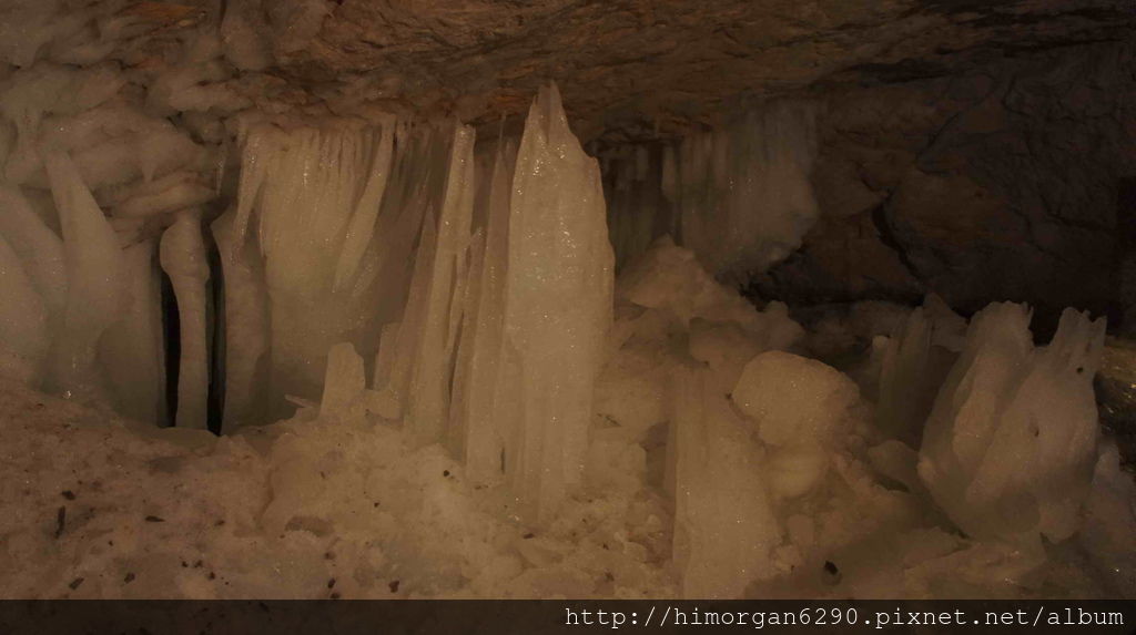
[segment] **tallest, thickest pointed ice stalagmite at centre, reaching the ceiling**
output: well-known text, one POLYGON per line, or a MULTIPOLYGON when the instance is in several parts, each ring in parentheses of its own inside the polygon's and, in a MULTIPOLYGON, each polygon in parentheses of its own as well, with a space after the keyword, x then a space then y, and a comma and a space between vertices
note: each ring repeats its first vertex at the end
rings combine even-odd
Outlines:
POLYGON ((506 463, 537 519, 579 483, 596 374, 611 322, 612 263, 600 168, 542 88, 525 121, 509 213, 502 381, 519 416, 506 463))

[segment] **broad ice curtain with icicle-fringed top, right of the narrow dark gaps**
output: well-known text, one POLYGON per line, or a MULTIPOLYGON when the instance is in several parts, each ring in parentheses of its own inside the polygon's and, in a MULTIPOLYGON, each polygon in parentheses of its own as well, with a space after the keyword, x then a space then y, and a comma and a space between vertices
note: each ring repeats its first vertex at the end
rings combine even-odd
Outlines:
MULTIPOLYGON (((254 122, 242 129, 241 183, 225 260, 226 268, 241 266, 247 228, 254 221, 270 300, 270 415, 286 414, 286 395, 318 397, 331 346, 361 342, 373 327, 375 271, 360 261, 382 222, 376 217, 393 134, 392 120, 291 129, 254 122)), ((251 397, 242 391, 236 399, 251 397)))

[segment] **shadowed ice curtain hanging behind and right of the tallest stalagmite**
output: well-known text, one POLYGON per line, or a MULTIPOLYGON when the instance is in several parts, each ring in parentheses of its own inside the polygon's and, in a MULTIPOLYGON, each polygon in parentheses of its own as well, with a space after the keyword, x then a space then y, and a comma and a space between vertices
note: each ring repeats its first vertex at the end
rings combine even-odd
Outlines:
POLYGON ((819 214, 810 184, 815 108, 770 102, 661 150, 609 158, 617 262, 630 262, 663 234, 715 274, 747 276, 787 257, 819 214))

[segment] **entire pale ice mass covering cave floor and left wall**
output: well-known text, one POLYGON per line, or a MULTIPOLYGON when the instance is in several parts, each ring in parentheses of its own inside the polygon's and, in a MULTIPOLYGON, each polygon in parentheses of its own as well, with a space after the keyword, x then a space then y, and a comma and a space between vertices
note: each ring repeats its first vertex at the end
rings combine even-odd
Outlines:
POLYGON ((722 283, 816 220, 810 103, 601 176, 554 87, 519 138, 274 102, 321 2, 105 5, 0 8, 0 595, 1136 589, 1100 322, 722 283))

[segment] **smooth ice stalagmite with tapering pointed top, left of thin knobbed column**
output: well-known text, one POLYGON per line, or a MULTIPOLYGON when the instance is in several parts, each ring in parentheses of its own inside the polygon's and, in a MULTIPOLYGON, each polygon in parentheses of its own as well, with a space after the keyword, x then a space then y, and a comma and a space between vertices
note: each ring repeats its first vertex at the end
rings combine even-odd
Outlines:
POLYGON ((126 306, 123 252, 70 158, 52 152, 45 164, 62 227, 67 271, 67 302, 52 341, 47 388, 68 397, 100 396, 99 339, 126 306))

